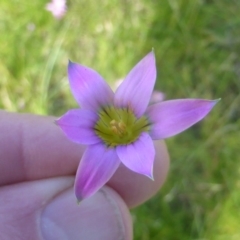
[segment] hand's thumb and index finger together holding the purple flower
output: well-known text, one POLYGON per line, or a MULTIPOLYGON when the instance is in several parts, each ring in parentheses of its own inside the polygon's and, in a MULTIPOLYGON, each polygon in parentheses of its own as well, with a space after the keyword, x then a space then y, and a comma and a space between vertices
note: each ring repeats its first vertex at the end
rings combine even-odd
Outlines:
POLYGON ((155 142, 155 181, 120 165, 77 205, 74 175, 85 147, 70 142, 55 119, 0 111, 0 239, 132 239, 129 208, 151 198, 167 176, 164 142, 155 142))

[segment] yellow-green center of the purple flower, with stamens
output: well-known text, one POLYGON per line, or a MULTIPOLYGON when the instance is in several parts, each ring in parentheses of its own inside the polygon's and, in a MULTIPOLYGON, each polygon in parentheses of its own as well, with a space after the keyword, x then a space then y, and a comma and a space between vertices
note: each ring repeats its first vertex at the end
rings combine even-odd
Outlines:
POLYGON ((109 106, 100 110, 98 115, 95 133, 110 147, 130 144, 150 128, 145 116, 137 118, 129 108, 109 106))

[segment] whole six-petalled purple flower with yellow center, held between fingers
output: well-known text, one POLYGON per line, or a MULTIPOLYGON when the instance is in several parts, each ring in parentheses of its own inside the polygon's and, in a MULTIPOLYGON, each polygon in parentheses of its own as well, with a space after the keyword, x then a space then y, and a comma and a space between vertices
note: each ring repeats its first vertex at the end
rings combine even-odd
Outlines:
POLYGON ((153 52, 130 71, 115 94, 97 72, 77 63, 69 62, 68 77, 81 109, 69 110, 56 123, 73 142, 89 145, 75 179, 78 201, 98 191, 120 162, 153 179, 152 140, 186 130, 218 101, 178 99, 149 105, 156 80, 153 52))

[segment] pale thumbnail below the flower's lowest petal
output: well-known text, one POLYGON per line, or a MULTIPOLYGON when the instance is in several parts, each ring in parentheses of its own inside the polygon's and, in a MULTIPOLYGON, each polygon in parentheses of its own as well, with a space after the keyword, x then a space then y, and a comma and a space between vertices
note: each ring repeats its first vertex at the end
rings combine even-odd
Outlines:
POLYGON ((41 231, 46 240, 125 240, 122 212, 108 188, 77 204, 73 190, 58 195, 43 210, 41 231))

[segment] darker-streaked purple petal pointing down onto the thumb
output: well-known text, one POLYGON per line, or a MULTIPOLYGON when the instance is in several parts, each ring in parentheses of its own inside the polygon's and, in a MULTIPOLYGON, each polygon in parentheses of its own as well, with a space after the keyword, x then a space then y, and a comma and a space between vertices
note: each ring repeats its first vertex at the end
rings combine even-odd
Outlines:
POLYGON ((119 164, 114 148, 107 148, 101 143, 88 147, 77 170, 77 199, 81 201, 97 192, 112 177, 119 164))

